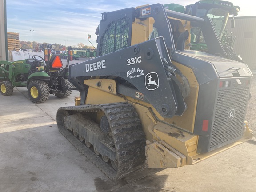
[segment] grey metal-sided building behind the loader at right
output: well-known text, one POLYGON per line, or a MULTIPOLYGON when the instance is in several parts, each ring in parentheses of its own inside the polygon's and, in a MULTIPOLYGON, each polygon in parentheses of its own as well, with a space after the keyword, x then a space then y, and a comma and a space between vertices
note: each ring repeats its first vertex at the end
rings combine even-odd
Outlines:
POLYGON ((235 28, 231 28, 231 19, 227 24, 228 31, 236 37, 233 49, 250 69, 256 69, 256 16, 235 17, 235 28), (251 38, 245 38, 247 33, 251 38))

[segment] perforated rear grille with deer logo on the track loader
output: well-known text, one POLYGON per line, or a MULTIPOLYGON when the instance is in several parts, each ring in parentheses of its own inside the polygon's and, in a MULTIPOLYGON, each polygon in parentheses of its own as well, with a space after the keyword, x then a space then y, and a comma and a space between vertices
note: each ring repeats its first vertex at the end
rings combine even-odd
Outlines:
POLYGON ((244 80, 241 82, 239 87, 219 89, 208 151, 232 143, 243 136, 250 88, 244 86, 244 80))

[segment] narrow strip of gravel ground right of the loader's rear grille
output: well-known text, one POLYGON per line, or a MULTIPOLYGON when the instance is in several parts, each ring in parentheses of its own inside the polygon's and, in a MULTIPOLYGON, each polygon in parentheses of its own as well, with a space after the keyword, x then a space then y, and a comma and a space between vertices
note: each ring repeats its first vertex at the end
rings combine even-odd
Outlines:
POLYGON ((248 126, 253 131, 254 140, 256 140, 256 75, 252 77, 251 95, 245 120, 248 121, 248 126))

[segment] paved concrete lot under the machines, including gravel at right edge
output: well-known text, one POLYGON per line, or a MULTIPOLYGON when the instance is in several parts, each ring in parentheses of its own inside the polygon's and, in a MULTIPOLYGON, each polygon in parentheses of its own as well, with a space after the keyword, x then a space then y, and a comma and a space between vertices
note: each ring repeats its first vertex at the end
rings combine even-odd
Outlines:
MULTIPOLYGON (((256 134, 256 77, 252 84, 247 120, 256 134)), ((50 95, 46 102, 34 104, 27 88, 0 95, 0 192, 256 191, 255 140, 193 166, 146 169, 109 180, 58 131, 57 109, 74 105, 75 96, 78 91, 64 99, 50 95)))

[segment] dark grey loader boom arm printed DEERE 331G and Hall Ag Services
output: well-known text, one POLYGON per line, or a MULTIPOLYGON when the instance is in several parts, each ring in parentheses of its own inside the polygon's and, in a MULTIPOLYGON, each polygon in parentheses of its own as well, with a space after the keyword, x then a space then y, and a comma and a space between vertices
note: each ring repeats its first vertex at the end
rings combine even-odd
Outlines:
POLYGON ((175 115, 178 107, 184 112, 186 105, 184 100, 177 101, 175 92, 180 97, 180 91, 174 88, 171 78, 168 80, 163 60, 171 62, 161 36, 74 64, 70 66, 69 81, 80 91, 81 104, 84 104, 87 93, 84 80, 96 76, 114 76, 112 79, 120 77, 136 87, 162 117, 170 118, 175 115))

